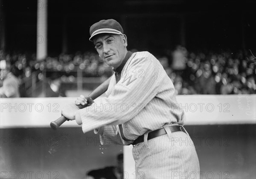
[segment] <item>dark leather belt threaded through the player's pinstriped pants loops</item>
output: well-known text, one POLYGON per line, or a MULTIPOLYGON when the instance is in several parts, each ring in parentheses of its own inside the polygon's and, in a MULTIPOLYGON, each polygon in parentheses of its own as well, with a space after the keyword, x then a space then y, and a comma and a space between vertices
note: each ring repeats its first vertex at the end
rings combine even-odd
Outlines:
MULTIPOLYGON (((184 128, 182 126, 178 126, 178 125, 177 126, 169 126, 169 128, 172 131, 172 133, 175 133, 178 131, 183 131, 184 133, 186 133, 186 131, 184 130, 184 128)), ((158 137, 158 136, 163 136, 164 134, 166 134, 166 130, 164 128, 154 130, 154 131, 148 133, 148 140, 154 139, 155 137, 158 137)), ((131 144, 136 145, 143 141, 144 141, 144 135, 139 136, 131 144)))

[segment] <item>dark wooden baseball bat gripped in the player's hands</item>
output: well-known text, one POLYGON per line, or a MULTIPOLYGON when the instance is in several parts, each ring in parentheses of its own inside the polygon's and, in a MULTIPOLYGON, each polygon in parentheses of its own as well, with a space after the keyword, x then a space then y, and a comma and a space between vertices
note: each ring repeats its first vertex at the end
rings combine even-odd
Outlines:
MULTIPOLYGON (((96 98, 98 98, 100 95, 102 95, 104 92, 106 92, 108 90, 108 85, 109 85, 109 82, 110 82, 110 78, 108 78, 106 81, 104 81, 102 84, 99 85, 99 87, 97 87, 95 90, 93 90, 88 96, 94 100, 96 98)), ((93 101, 90 99, 90 98, 87 98, 87 102, 88 103, 93 103, 93 101)), ((76 105, 76 104, 74 104, 76 105)), ((87 105, 79 105, 78 106, 80 109, 84 108, 84 107, 87 107, 87 105)), ((63 124, 65 121, 67 121, 68 119, 66 117, 64 117, 63 115, 61 115, 60 118, 56 119, 55 121, 52 121, 50 123, 50 127, 53 129, 53 130, 56 130, 58 129, 58 127, 61 126, 61 124, 63 124)))

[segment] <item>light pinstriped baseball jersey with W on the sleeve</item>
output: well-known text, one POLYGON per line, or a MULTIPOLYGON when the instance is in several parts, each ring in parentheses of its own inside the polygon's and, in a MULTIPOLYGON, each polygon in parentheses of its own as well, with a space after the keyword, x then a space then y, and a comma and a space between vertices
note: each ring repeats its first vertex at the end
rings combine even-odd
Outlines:
POLYGON ((105 92, 90 107, 76 113, 76 122, 84 133, 95 130, 103 139, 120 139, 118 124, 131 141, 165 125, 184 124, 185 115, 178 106, 175 89, 163 66, 149 52, 136 52, 126 62, 116 83, 113 75, 105 92))

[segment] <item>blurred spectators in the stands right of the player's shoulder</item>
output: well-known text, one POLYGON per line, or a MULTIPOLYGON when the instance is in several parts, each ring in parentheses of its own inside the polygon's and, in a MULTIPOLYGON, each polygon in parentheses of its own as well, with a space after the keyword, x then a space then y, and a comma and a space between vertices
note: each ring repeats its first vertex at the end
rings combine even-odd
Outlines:
POLYGON ((177 46, 171 63, 158 59, 177 95, 256 93, 256 58, 250 51, 188 52, 177 46))

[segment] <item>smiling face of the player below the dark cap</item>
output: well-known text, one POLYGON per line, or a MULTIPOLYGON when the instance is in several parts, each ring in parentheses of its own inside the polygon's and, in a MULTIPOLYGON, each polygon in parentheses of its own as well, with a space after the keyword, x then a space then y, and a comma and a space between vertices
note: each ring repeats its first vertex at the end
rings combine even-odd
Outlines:
POLYGON ((121 65, 127 52, 127 39, 125 35, 102 34, 93 39, 95 49, 103 61, 117 68, 121 65))

